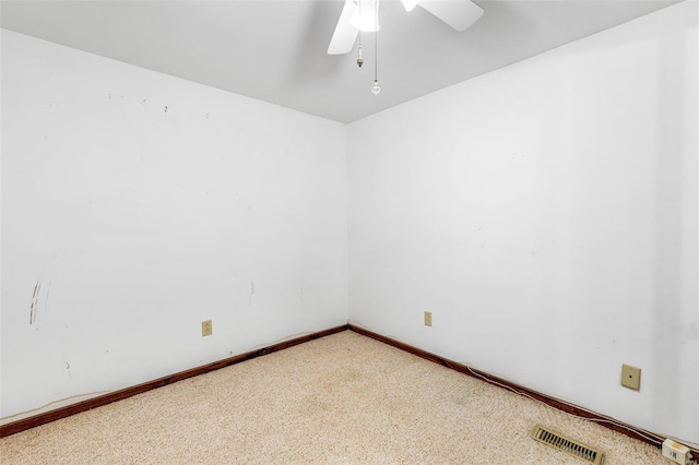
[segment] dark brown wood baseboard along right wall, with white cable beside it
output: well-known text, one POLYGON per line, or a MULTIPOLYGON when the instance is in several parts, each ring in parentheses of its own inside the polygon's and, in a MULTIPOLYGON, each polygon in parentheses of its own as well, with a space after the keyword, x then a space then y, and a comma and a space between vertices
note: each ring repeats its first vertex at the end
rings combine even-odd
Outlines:
MULTIPOLYGON (((381 334, 375 333, 372 331, 366 330, 366 329, 357 326, 355 324, 348 324, 348 326, 350 326, 350 330, 354 331, 355 333, 362 334, 362 335, 367 336, 367 337, 371 337, 371 338, 374 338, 376 341, 380 341, 382 343, 386 343, 386 344, 391 345, 393 347, 400 348, 402 350, 405 350, 405 351, 407 351, 410 354, 416 355, 416 356, 418 356, 420 358, 424 358, 426 360, 429 360, 429 361, 433 361, 435 363, 439 363, 439 365, 441 365, 443 367, 450 368, 452 370, 459 371, 460 373, 464 373, 464 374, 467 374, 470 377, 477 378, 477 379, 481 379, 483 381, 486 381, 486 382, 488 382, 490 384, 498 385, 499 388, 503 388, 505 386, 505 389, 508 389, 509 391, 516 392, 518 394, 523 394, 523 395, 526 395, 526 396, 530 396, 530 397, 534 397, 535 400, 541 401, 544 404, 549 405, 549 406, 552 406, 554 408, 567 412, 567 413, 572 414, 572 415, 578 416, 578 417, 583 417, 583 418, 591 419, 591 420, 597 422, 599 425, 602 425, 603 427, 609 428, 609 429, 612 429, 614 431, 620 432, 621 434, 626 434, 626 436, 628 436, 630 438, 638 439, 639 441, 647 442, 647 443, 652 444, 652 445, 654 445, 654 446, 656 446, 659 449, 662 446, 662 442, 666 439, 666 438, 663 438, 662 436, 655 434, 655 433, 648 434, 645 432, 642 432, 640 430, 640 428, 636 428, 633 426, 624 424, 621 421, 615 420, 614 418, 609 418, 609 417, 606 417, 604 415, 600 415, 600 414, 595 414, 595 413, 592 413, 592 412, 588 412, 588 410, 582 409, 582 408, 580 408, 580 407, 578 407, 576 405, 568 404, 568 403, 566 403, 564 401, 557 400, 555 397, 550 397, 548 395, 542 394, 542 393, 536 392, 536 391, 532 391, 531 389, 523 388, 523 386, 514 384, 514 383, 512 383, 510 381, 503 380, 503 379, 498 378, 498 377, 494 377, 494 375, 488 374, 488 373, 486 373, 484 371, 476 370, 475 368, 471 368, 471 367, 469 367, 466 365, 459 363, 459 362, 453 361, 453 360, 449 360, 448 358, 440 357, 440 356, 431 354, 431 353, 429 353, 427 350, 419 349, 417 347, 411 346, 410 344, 405 344, 405 343, 402 343, 400 341, 393 339, 391 337, 383 336, 381 334), (611 422, 611 421, 613 421, 613 422, 611 422), (649 438, 645 438, 645 436, 656 437, 657 440, 651 440, 649 438)), ((699 461, 699 452, 694 452, 692 451, 691 453, 692 453, 694 457, 699 461)))

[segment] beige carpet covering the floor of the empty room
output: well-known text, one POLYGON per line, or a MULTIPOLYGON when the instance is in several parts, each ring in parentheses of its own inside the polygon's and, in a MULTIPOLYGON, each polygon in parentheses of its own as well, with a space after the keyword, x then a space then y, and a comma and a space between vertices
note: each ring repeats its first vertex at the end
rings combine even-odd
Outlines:
POLYGON ((536 424, 606 464, 660 451, 345 331, 0 439, 10 464, 584 464, 530 439, 536 424))

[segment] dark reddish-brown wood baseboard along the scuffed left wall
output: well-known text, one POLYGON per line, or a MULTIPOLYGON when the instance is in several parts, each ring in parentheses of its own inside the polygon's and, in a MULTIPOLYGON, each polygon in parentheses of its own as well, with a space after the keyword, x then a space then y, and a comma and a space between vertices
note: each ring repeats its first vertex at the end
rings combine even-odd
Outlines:
POLYGON ((340 333, 348 329, 350 327, 347 324, 343 324, 340 326, 319 331, 317 333, 306 334, 300 337, 295 337, 293 339, 284 341, 281 343, 272 344, 271 346, 251 350, 246 354, 236 355, 234 357, 225 358, 223 360, 214 361, 212 363, 203 365, 201 367, 192 368, 189 370, 180 371, 175 374, 158 378, 157 380, 147 381, 145 383, 138 384, 135 386, 125 388, 122 390, 110 392, 105 395, 99 395, 97 397, 93 397, 86 401, 78 402, 75 404, 67 405, 64 407, 60 407, 55 410, 46 412, 44 414, 39 414, 32 417, 23 418, 17 421, 9 422, 7 425, 0 426, 0 438, 15 434, 17 432, 27 430, 29 428, 35 428, 37 426, 45 425, 51 421, 56 421, 58 419, 66 418, 71 415, 75 415, 81 412, 91 410, 93 408, 100 407, 103 405, 111 404, 112 402, 121 401, 137 394, 142 394, 144 392, 147 392, 157 388, 162 388, 167 384, 176 383, 177 381, 182 381, 188 378, 198 377, 200 374, 218 370, 221 368, 229 367, 232 365, 239 363, 241 361, 251 360, 253 358, 272 354, 279 350, 283 350, 285 348, 293 347, 298 344, 307 343, 312 339, 318 339, 320 337, 340 333))

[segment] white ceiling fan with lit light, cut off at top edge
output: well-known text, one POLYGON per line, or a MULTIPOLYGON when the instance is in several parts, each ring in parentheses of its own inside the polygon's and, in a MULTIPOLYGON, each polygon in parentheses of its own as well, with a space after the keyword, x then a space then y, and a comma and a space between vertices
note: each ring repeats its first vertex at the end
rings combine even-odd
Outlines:
MULTIPOLYGON (((405 11, 412 11, 419 5, 459 32, 469 28, 483 14, 483 9, 471 0, 401 0, 401 2, 405 11)), ((351 52, 359 31, 372 32, 378 28, 378 19, 375 17, 377 13, 375 0, 345 0, 328 47, 328 55, 351 52)))

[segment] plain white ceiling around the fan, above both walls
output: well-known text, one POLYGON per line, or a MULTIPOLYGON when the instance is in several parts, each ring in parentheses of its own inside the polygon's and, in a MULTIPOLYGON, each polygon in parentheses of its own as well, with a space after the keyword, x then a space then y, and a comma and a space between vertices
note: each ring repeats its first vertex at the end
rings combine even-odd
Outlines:
POLYGON ((606 29, 678 0, 475 0, 485 13, 458 33, 423 9, 381 0, 374 39, 325 50, 344 0, 7 1, 3 28, 350 122, 606 29), (355 46, 356 50, 356 46, 355 46))

